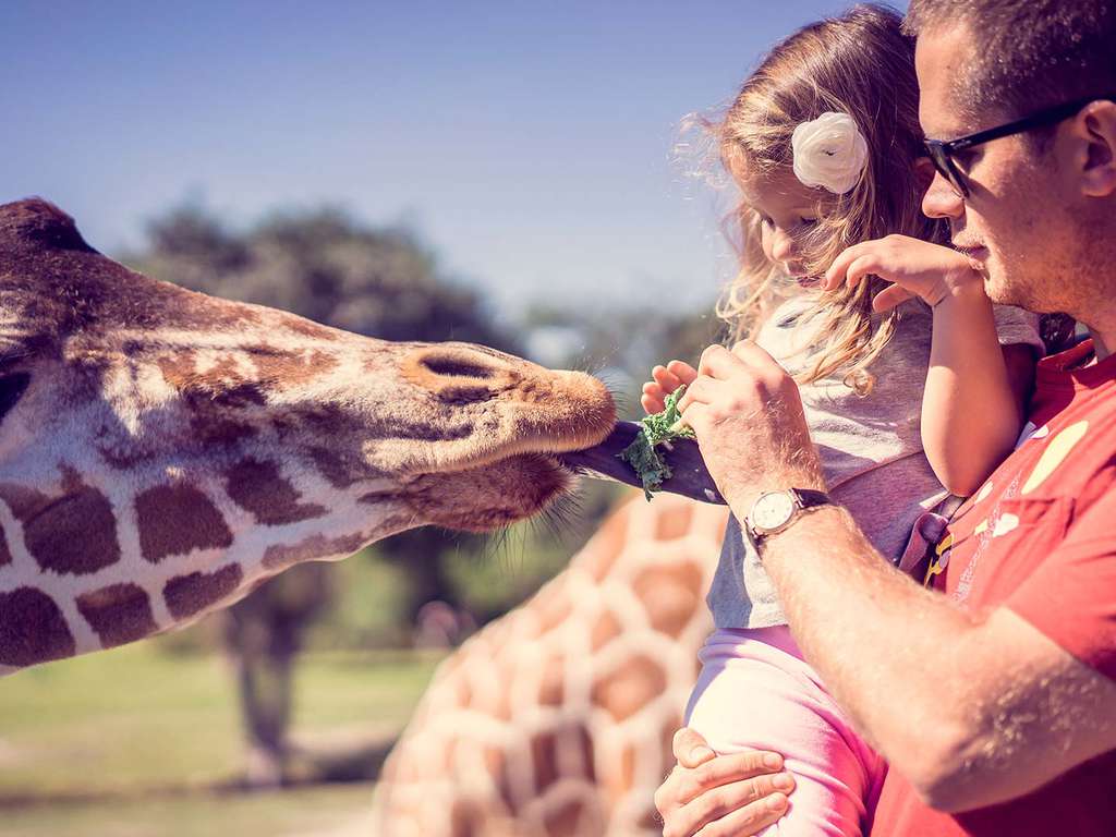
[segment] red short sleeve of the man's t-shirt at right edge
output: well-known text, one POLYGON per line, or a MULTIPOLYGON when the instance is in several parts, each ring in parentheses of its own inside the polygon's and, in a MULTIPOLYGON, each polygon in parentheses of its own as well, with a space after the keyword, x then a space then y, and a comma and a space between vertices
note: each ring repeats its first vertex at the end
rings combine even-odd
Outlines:
MULTIPOLYGON (((1007 606, 1086 665, 1116 680, 1116 478, 1007 606)), ((1036 545, 1037 546, 1037 545, 1036 545)))

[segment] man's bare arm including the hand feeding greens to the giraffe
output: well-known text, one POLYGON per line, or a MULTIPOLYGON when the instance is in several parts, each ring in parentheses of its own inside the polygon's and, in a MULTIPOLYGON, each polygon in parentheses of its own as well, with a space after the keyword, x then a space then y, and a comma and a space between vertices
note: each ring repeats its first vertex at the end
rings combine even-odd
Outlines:
MULTIPOLYGON (((738 517, 764 490, 825 488, 767 353, 711 347, 699 372, 680 406, 738 517)), ((804 514, 762 558, 807 660, 930 805, 1002 801, 1116 748, 1116 684, 1007 608, 973 617, 922 589, 844 510, 804 514)))

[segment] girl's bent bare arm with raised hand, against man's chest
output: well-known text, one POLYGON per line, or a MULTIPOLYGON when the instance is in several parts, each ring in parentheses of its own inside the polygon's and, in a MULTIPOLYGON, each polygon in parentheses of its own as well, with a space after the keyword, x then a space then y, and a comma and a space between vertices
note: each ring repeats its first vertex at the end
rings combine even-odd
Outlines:
POLYGON ((983 276, 955 250, 906 235, 867 241, 837 257, 825 287, 869 273, 894 282, 876 296, 877 311, 914 297, 934 309, 923 448, 942 484, 970 494, 1019 437, 1033 377, 1031 348, 1001 348, 983 276))

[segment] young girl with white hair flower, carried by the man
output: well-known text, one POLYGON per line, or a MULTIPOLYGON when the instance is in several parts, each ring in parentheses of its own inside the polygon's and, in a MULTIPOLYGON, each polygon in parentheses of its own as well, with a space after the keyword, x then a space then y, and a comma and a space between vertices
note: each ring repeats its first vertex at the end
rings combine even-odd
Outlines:
MULTIPOLYGON (((721 314, 795 375, 830 497, 896 562, 920 516, 974 491, 1010 452, 1042 353, 1035 317, 993 310, 979 281, 963 294, 939 281, 973 267, 920 211, 933 169, 921 160, 913 51, 882 8, 807 26, 715 126, 744 232, 721 314), (914 266, 904 287, 848 250, 893 234, 914 266)), ((652 374, 650 413, 696 377, 676 360, 652 374)), ((785 756, 797 788, 779 834, 862 834, 885 766, 802 661, 735 519, 708 602, 716 629, 687 725, 721 753, 785 756)))

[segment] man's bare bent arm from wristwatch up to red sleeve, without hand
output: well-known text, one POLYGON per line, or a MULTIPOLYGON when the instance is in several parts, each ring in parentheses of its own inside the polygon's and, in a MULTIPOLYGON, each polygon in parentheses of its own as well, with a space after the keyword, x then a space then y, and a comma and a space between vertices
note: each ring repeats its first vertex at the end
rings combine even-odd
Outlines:
POLYGON ((1006 607, 973 618, 918 587, 844 509, 762 555, 807 660, 932 807, 1011 799, 1116 748, 1116 683, 1006 607))

